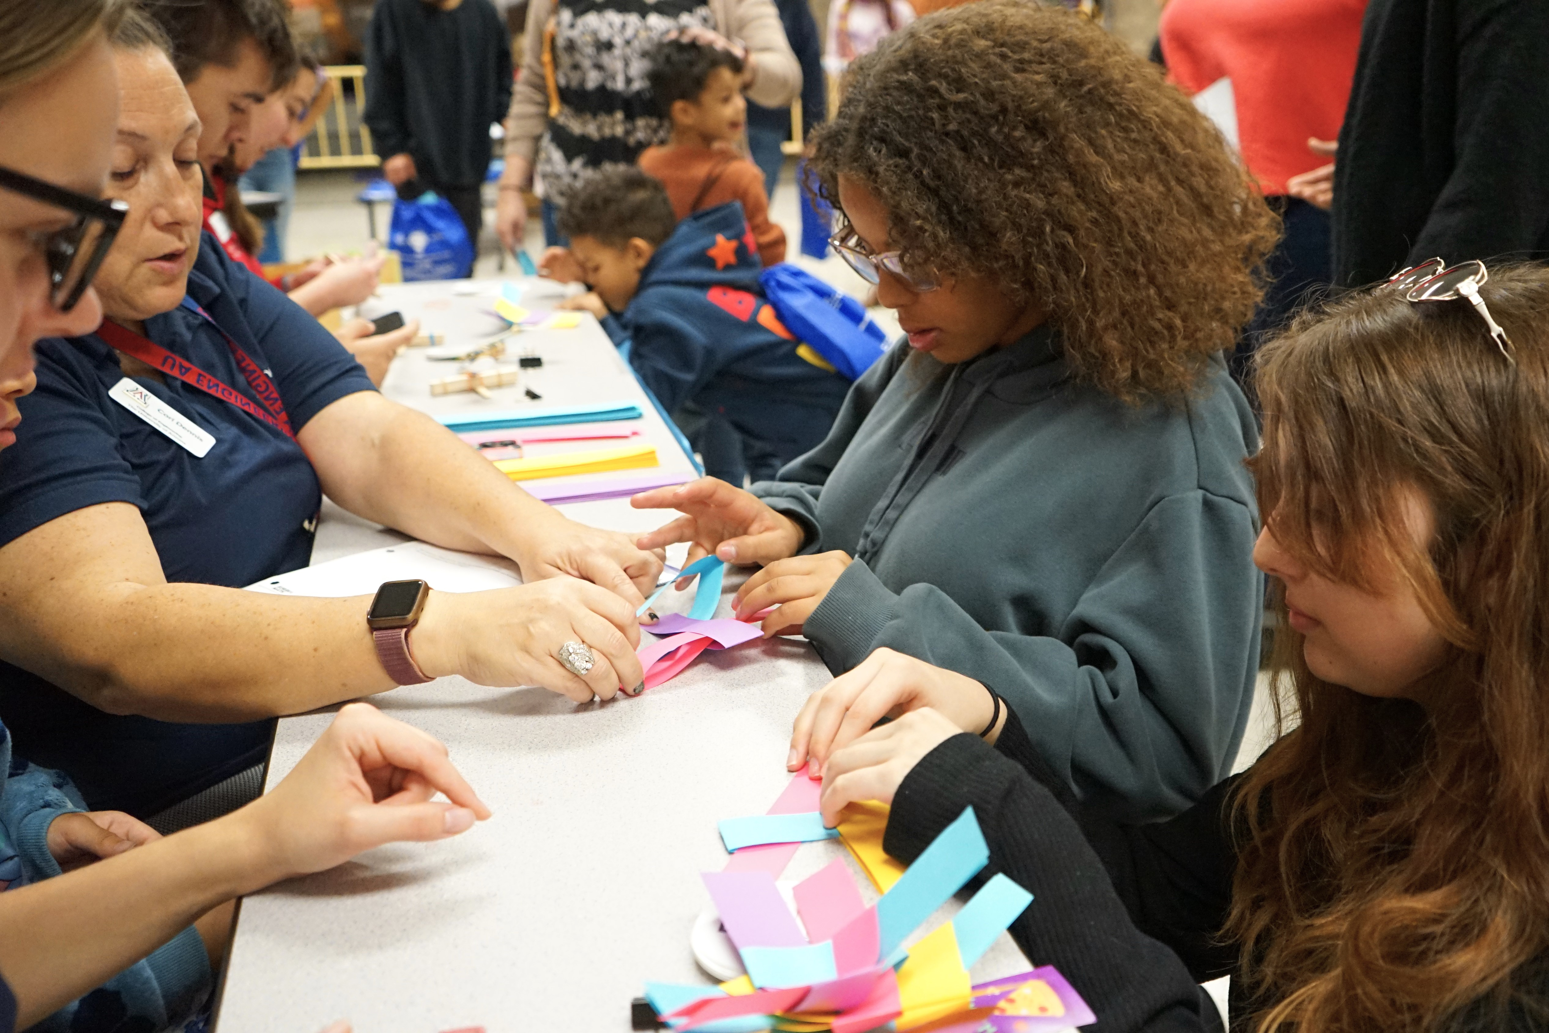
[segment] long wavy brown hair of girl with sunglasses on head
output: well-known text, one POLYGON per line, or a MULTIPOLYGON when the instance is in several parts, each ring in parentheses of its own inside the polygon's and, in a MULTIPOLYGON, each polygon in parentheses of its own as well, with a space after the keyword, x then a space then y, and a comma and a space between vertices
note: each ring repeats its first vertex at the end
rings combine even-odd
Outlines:
POLYGON ((1258 358, 1276 541, 1346 584, 1400 571, 1450 644, 1422 709, 1318 680, 1283 627, 1300 726, 1238 791, 1225 931, 1261 1033, 1534 1007, 1516 977, 1549 948, 1549 271, 1493 269, 1484 297, 1515 365, 1467 302, 1382 288, 1258 358), (1425 545, 1400 513, 1414 491, 1425 545))

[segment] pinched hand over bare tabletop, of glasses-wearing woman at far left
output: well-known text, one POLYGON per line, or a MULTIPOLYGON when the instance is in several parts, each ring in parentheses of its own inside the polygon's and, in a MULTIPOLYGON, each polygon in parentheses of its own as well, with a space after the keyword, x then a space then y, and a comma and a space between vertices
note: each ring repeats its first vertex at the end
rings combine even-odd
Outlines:
POLYGON ((266 860, 266 881, 277 881, 384 843, 446 839, 488 816, 446 746, 375 706, 350 703, 273 791, 220 821, 248 832, 266 860), (432 801, 437 791, 451 802, 432 801))

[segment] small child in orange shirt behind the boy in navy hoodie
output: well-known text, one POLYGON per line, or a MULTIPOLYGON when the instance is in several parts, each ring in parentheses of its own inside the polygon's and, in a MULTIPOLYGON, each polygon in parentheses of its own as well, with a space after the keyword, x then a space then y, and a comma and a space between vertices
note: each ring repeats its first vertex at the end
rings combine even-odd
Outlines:
POLYGON ((640 167, 668 187, 672 212, 694 212, 740 201, 759 260, 785 260, 785 231, 770 221, 764 173, 736 150, 747 125, 742 98, 744 62, 737 54, 666 40, 652 51, 651 91, 672 122, 672 139, 640 155, 640 167))

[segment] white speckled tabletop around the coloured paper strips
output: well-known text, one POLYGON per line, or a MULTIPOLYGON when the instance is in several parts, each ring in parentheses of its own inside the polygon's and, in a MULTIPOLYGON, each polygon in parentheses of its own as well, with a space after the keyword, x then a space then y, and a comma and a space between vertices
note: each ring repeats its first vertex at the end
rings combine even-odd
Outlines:
MULTIPOLYGON (((410 314, 406 302, 429 290, 389 288, 387 302, 410 314)), ((617 356, 595 324, 562 333, 572 335, 564 342, 572 375, 548 378, 545 403, 575 404, 584 398, 575 396, 584 386, 575 372, 609 375, 617 356)), ((431 364, 415 358, 395 364, 387 393, 445 410, 428 404, 431 364)), ((545 350, 545 373, 561 372, 545 350)), ((618 530, 661 520, 627 500, 565 511, 618 530)), ((314 562, 401 541, 328 506, 314 562)), ((726 590, 737 581, 728 578, 726 590)), ((685 609, 685 599, 668 609, 685 609)), ((448 743, 494 818, 446 843, 383 847, 243 900, 220 1033, 316 1033, 339 1018, 358 1033, 627 1030, 629 1000, 644 980, 711 982, 688 937, 708 904, 699 872, 726 858, 716 821, 762 813, 774 801, 788 777, 790 722, 827 680, 810 646, 774 640, 706 652, 668 685, 612 703, 578 706, 542 689, 462 678, 376 697, 386 712, 448 743)), ((270 785, 328 720, 280 722, 270 785)), ((847 855, 832 841, 805 844, 787 877, 833 856, 847 855)), ((1024 968, 1002 935, 974 977, 1024 968)))

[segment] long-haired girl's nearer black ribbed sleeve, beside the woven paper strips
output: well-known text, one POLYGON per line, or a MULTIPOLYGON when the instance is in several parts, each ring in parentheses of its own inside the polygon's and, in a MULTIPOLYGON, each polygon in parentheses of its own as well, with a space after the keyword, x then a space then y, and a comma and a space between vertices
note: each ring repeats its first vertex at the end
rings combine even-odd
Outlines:
MULTIPOLYGON (((1041 784, 977 736, 953 736, 903 779, 883 849, 909 863, 971 805, 990 866, 1033 894, 1011 935, 1086 997, 1101 1033, 1219 1028, 1183 962, 1131 921, 1081 829, 1041 784)), ((1205 846, 1208 849, 1208 846, 1205 846)))

